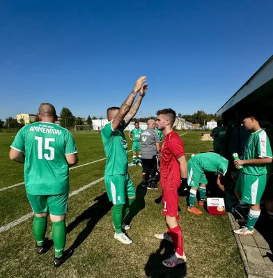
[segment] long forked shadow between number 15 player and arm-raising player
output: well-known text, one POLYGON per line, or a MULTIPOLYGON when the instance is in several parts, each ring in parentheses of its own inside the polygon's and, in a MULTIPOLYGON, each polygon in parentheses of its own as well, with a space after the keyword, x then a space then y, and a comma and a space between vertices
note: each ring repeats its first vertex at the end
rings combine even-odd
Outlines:
POLYGON ((98 202, 87 208, 84 213, 81 213, 81 215, 68 225, 67 231, 70 233, 70 231, 73 231, 73 229, 75 229, 81 222, 87 219, 89 220, 86 227, 79 233, 70 247, 71 250, 75 250, 79 247, 79 245, 81 245, 81 243, 84 242, 84 240, 86 240, 95 225, 110 211, 112 207, 112 203, 109 202, 107 193, 103 193, 102 195, 96 197, 95 201, 98 202))

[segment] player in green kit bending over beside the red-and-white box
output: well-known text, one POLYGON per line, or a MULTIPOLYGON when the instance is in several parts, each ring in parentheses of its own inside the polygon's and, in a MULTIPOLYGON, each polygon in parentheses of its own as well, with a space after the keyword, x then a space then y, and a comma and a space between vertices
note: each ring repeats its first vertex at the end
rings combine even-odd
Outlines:
POLYGON ((188 186, 190 186, 191 189, 189 190, 189 206, 187 207, 187 211, 194 214, 202 214, 202 211, 199 211, 198 208, 194 206, 194 201, 196 199, 197 190, 199 189, 200 201, 198 204, 199 206, 204 206, 206 186, 208 184, 204 172, 217 172, 217 185, 221 190, 224 190, 221 181, 227 170, 228 160, 214 152, 196 154, 189 159, 188 186))

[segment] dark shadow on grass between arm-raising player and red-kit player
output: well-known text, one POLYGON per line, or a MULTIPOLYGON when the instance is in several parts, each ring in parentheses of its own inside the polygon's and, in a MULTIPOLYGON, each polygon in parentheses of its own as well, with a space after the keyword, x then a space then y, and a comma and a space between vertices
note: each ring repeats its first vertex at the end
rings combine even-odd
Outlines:
POLYGON ((142 186, 142 182, 139 183, 136 189, 136 199, 132 203, 129 213, 126 215, 124 222, 130 224, 132 219, 145 208, 145 196, 147 194, 147 188, 142 186))

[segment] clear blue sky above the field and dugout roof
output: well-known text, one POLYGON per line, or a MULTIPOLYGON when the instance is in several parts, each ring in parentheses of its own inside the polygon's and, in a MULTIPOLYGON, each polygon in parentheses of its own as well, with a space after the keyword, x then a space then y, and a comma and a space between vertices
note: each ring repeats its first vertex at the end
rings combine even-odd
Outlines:
POLYGON ((141 75, 141 115, 215 113, 272 55, 272 10, 270 0, 1 1, 0 118, 42 102, 104 116, 141 75))

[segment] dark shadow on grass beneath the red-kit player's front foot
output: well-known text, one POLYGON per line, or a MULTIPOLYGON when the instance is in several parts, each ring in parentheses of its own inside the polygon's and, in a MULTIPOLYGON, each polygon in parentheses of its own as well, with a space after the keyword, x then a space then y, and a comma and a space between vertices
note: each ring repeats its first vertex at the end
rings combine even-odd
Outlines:
POLYGON ((168 259, 174 253, 173 243, 162 240, 157 252, 150 254, 145 266, 145 272, 148 278, 182 278, 187 274, 186 263, 177 265, 174 268, 166 268, 162 265, 164 259, 168 259), (164 250, 163 254, 162 251, 164 250))

